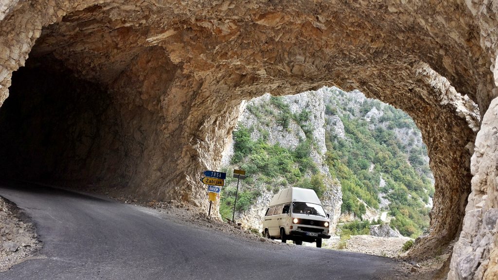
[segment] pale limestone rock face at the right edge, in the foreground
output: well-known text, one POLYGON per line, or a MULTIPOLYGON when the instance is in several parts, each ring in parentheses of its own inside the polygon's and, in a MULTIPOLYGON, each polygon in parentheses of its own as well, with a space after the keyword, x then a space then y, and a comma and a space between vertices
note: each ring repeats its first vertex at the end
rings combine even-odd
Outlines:
POLYGON ((497 279, 498 99, 484 116, 471 161, 472 193, 448 279, 497 279), (492 269, 488 269, 492 268, 492 269))

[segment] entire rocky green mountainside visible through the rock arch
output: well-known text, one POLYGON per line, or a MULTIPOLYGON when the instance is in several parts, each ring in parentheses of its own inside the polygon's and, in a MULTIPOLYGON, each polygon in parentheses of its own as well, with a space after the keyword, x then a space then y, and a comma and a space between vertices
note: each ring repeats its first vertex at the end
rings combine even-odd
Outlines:
MULTIPOLYGON (((341 220, 391 221, 406 236, 428 227, 434 179, 415 124, 400 110, 335 87, 253 99, 240 117, 223 170, 243 168, 236 220, 260 230, 281 188, 313 188, 341 220)), ((237 181, 228 179, 220 213, 231 219, 237 181)))

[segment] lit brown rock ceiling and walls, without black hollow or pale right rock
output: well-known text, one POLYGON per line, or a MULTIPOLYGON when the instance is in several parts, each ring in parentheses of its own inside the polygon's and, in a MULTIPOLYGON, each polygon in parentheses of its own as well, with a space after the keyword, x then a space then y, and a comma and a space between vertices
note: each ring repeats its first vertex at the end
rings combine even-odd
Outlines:
MULTIPOLYGON (((359 89, 410 114, 428 146, 436 193, 431 231, 418 245, 427 252, 462 225, 474 104, 484 115, 497 96, 496 14, 485 0, 7 0, 0 105, 28 55, 55 57, 111 94, 120 135, 143 133, 122 145, 144 152, 118 157, 135 171, 105 165, 101 183, 206 206, 198 179, 219 166, 241 100, 359 89)), ((81 168, 92 174, 102 158, 81 168)))

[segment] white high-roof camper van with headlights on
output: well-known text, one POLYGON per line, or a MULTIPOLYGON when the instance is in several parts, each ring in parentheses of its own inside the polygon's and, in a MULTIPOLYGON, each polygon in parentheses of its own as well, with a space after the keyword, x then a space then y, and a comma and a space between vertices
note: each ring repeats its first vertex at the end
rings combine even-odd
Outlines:
POLYGON ((294 241, 297 245, 316 242, 322 247, 322 239, 329 239, 329 215, 315 191, 303 188, 287 188, 271 199, 263 220, 263 236, 271 239, 294 241))

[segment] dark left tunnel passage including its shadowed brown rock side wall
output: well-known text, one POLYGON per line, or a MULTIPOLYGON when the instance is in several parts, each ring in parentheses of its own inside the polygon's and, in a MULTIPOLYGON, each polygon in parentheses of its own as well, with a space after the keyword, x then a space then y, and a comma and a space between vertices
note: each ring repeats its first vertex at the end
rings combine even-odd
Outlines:
POLYGON ((182 172, 175 181, 162 173, 180 160, 171 151, 189 108, 187 93, 163 94, 186 86, 175 84, 183 73, 143 30, 111 17, 93 5, 41 30, 0 108, 0 175, 188 200, 190 191, 174 189, 182 172))

